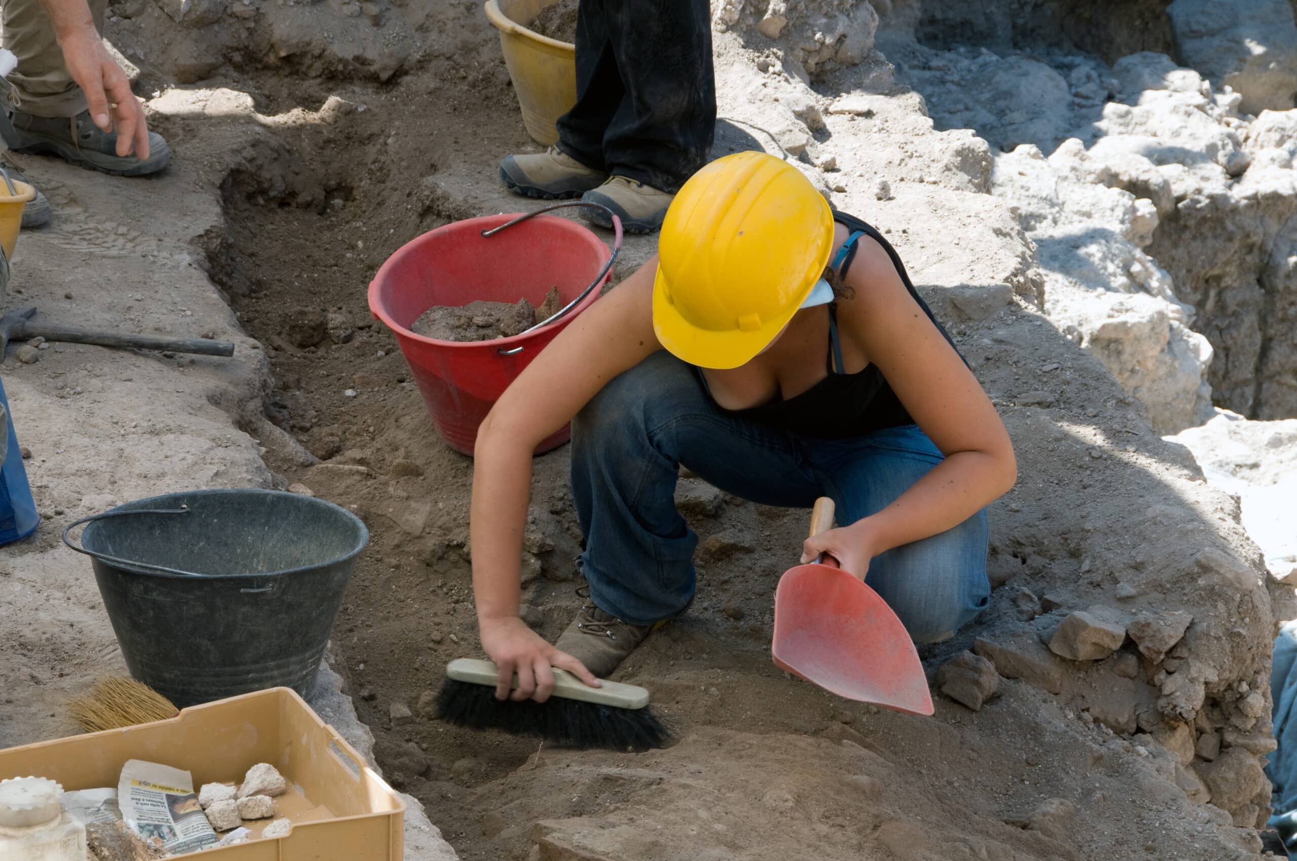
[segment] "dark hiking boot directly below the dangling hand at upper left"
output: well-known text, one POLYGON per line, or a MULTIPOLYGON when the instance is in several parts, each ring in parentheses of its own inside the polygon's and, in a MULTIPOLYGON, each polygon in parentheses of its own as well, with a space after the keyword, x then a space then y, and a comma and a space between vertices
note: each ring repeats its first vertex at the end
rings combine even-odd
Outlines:
POLYGON ((49 153, 87 170, 114 176, 156 174, 171 161, 171 149, 157 132, 149 132, 149 157, 117 154, 117 132, 100 131, 89 112, 75 117, 34 117, 21 110, 10 115, 18 134, 17 153, 49 153))

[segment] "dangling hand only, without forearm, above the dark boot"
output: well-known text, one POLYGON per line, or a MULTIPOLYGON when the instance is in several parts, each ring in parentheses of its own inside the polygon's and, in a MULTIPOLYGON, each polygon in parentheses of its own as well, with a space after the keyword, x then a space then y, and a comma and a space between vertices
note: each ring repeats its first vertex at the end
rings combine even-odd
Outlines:
POLYGON ((135 150, 149 157, 149 127, 144 106, 131 92, 131 82, 93 27, 83 29, 58 41, 64 62, 73 80, 86 93, 89 118, 104 132, 117 132, 117 154, 126 157, 135 150))

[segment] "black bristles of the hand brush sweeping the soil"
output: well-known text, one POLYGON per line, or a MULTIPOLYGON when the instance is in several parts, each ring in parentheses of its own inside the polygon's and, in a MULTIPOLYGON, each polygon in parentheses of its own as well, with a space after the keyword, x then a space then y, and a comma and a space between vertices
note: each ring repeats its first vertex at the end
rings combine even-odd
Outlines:
POLYGON ((494 687, 453 678, 437 694, 437 717, 455 726, 532 735, 567 747, 645 749, 672 739, 652 705, 615 708, 562 696, 515 703, 495 699, 494 687))

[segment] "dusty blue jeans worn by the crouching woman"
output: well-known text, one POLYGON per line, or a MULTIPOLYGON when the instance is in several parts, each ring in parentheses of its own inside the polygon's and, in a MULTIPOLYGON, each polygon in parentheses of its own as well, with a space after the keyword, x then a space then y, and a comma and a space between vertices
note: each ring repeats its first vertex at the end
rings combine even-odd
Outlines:
MULTIPOLYGON (((917 425, 853 440, 815 440, 721 410, 694 370, 655 353, 606 385, 572 423, 572 495, 586 548, 590 599, 646 625, 694 596, 698 536, 676 511, 680 464, 744 499, 809 508, 837 504, 838 523, 881 511, 942 462, 917 425)), ((888 550, 869 585, 920 643, 946 639, 990 602, 986 511, 888 550)), ((789 565, 802 548, 789 547, 789 565)))

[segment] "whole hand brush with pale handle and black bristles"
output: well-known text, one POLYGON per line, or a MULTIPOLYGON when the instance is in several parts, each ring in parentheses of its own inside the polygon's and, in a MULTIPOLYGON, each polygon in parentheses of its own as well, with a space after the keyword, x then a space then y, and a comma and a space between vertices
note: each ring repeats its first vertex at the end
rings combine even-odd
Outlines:
POLYGON ((437 717, 457 726, 534 735, 569 747, 642 749, 661 747, 672 738, 642 687, 620 682, 590 687, 567 670, 554 668, 554 694, 547 702, 518 703, 495 699, 498 678, 490 661, 468 657, 450 661, 446 683, 437 695, 437 717))

